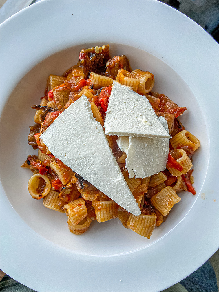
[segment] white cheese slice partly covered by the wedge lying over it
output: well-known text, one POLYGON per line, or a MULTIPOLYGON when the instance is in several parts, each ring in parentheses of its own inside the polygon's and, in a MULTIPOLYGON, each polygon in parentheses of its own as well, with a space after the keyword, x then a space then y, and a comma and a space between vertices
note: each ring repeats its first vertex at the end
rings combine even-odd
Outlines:
MULTIPOLYGON (((159 121, 168 131, 163 117, 159 121)), ((126 152, 126 168, 129 178, 145 178, 166 168, 169 138, 119 137, 117 144, 126 152), (128 139, 128 142, 127 142, 128 139), (128 146, 128 147, 127 147, 128 146)))

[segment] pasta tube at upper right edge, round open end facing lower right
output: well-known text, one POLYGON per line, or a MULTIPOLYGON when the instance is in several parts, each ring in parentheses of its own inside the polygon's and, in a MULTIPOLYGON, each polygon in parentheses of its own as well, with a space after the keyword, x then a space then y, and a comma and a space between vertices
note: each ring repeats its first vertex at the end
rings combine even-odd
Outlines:
POLYGON ((154 86, 154 75, 149 71, 142 71, 140 69, 135 69, 131 72, 135 78, 139 79, 137 92, 140 94, 148 93, 152 90, 154 86))

